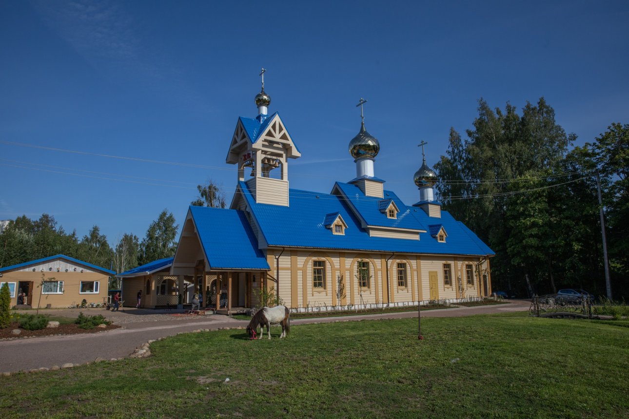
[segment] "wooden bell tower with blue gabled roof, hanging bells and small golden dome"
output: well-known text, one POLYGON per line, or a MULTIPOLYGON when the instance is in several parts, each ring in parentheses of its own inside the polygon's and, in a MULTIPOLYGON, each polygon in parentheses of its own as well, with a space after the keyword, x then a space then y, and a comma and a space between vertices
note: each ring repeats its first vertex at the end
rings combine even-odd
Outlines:
POLYGON ((279 113, 268 114, 271 98, 264 91, 265 72, 262 68, 262 90, 255 95, 258 116, 238 118, 225 161, 238 165, 238 181, 247 183, 255 202, 287 207, 287 159, 299 158, 301 153, 292 142, 279 113), (249 171, 250 179, 245 181, 246 171, 249 171))

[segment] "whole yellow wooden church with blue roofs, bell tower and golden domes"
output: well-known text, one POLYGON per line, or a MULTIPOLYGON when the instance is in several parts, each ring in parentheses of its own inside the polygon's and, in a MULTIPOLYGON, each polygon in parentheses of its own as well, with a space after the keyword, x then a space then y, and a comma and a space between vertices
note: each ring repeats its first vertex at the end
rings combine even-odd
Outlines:
POLYGON ((494 253, 435 201, 437 175, 425 158, 416 204, 376 177, 380 144, 365 129, 362 103, 349 143, 356 177, 329 193, 291 189, 289 160, 301 153, 279 113, 269 114, 263 79, 258 115, 238 118, 227 153, 238 167, 230 209, 189 207, 167 276, 173 288, 177 278, 192 283, 203 306, 228 313, 255 306, 262 287, 296 311, 491 295, 494 253))

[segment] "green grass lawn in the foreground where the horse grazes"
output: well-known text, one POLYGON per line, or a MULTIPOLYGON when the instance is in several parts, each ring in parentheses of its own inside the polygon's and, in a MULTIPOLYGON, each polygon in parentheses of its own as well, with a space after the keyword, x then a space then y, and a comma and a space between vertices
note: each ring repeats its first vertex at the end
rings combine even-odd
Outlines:
POLYGON ((179 335, 146 359, 0 377, 0 416, 626 418, 619 326, 515 313, 425 318, 424 340, 414 319, 179 335))

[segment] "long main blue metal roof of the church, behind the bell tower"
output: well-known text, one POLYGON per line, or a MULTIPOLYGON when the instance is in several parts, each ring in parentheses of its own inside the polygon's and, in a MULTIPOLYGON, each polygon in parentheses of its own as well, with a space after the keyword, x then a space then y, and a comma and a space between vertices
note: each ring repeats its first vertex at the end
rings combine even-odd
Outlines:
MULTIPOLYGON (((252 208, 253 216, 260 226, 260 234, 264 236, 269 246, 381 251, 387 253, 494 254, 486 245, 483 244, 482 247, 479 245, 479 242, 482 242, 478 237, 470 239, 469 234, 474 233, 465 231, 465 229, 460 227, 460 223, 447 211, 442 211, 442 218, 438 219, 448 231, 448 241, 445 243, 437 242, 431 238, 428 239, 430 235, 426 233, 420 233, 420 240, 370 237, 369 232, 360 227, 359 218, 354 215, 347 202, 337 195, 291 189, 289 190, 291 204, 289 207, 283 207, 281 205, 257 204, 247 183, 239 182, 238 185, 242 189, 243 197, 252 208), (337 212, 343 217, 348 226, 343 235, 332 234, 325 226, 326 215, 336 214, 337 212)), ((367 215, 367 218, 374 213, 378 217, 387 219, 386 215, 382 215, 377 209, 378 199, 365 197, 360 189, 353 185, 348 185, 347 183, 337 183, 337 185, 342 185, 346 190, 353 193, 358 192, 362 195, 357 200, 359 202, 357 207, 363 209, 362 203, 365 203, 365 210, 370 214, 367 215), (351 188, 355 188, 355 190, 351 188)), ((412 226, 411 228, 415 230, 425 230, 423 226, 435 222, 435 219, 428 217, 423 210, 413 207, 408 208, 392 192, 386 193, 389 193, 389 197, 396 202, 400 211, 404 212, 405 223, 408 223, 404 225, 412 226)), ((225 228, 229 229, 230 227, 225 228)))

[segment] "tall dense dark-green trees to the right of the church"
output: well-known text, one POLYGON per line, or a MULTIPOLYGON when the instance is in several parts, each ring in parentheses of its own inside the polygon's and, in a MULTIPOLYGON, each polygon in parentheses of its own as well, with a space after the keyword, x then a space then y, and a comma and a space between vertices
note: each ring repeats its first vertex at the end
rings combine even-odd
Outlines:
POLYGON ((616 288, 626 278, 629 127, 612 124, 592 144, 569 150, 555 112, 542 98, 518 114, 479 101, 467 138, 450 130, 447 154, 435 170, 440 200, 496 252, 494 289, 526 295, 589 288, 603 293, 604 276, 594 172, 601 171, 610 220, 616 288), (621 238, 622 236, 622 238, 621 238), (624 267, 624 268, 623 268, 624 267), (623 269, 625 269, 623 271, 623 269), (625 273, 623 273, 625 272, 625 273))

